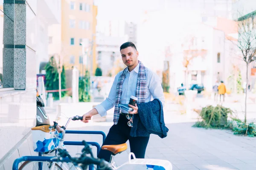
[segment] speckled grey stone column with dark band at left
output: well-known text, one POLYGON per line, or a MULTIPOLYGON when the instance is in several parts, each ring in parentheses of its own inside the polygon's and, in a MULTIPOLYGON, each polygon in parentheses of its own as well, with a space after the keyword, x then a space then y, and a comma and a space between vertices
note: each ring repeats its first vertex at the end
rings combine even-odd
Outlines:
POLYGON ((26 0, 3 3, 3 87, 26 89, 26 0))

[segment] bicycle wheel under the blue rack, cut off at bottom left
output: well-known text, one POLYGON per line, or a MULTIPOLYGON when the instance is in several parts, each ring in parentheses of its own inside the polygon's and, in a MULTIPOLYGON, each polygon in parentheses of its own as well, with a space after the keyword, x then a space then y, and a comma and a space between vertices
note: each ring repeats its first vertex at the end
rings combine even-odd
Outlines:
MULTIPOLYGON (((20 167, 19 170, 39 170, 37 161, 24 161, 20 167)), ((42 162, 43 169, 42 170, 49 170, 50 165, 54 165, 54 170, 63 170, 58 164, 54 162, 42 162)))

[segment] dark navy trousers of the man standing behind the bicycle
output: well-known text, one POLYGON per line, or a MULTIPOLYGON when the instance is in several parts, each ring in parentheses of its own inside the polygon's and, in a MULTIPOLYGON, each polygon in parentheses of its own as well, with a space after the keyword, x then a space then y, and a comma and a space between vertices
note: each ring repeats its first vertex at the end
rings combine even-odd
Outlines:
MULTIPOLYGON (((108 135, 102 145, 110 144, 123 144, 129 140, 130 150, 134 153, 136 158, 145 158, 146 147, 148 145, 148 137, 131 137, 130 131, 131 127, 127 125, 129 120, 120 114, 119 121, 117 125, 113 125, 108 135)), ((122 153, 121 153, 122 154, 122 153)), ((106 161, 110 160, 111 152, 108 150, 100 150, 98 158, 105 159, 106 161)))

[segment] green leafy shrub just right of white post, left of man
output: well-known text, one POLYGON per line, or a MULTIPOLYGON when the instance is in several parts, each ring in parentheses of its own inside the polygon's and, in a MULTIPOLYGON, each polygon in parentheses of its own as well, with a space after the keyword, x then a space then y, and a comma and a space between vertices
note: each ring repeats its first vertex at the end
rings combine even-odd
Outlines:
POLYGON ((79 79, 79 102, 90 102, 90 73, 85 71, 84 77, 79 79))

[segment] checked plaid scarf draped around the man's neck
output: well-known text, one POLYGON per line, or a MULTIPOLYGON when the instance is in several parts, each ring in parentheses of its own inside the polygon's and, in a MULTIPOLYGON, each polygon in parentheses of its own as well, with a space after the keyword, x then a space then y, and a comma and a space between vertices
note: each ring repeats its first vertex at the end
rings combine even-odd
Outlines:
MULTIPOLYGON (((139 64, 140 64, 140 67, 139 67, 135 96, 138 98, 137 103, 145 103, 146 85, 147 85, 146 68, 142 64, 142 62, 139 61, 139 64)), ((126 67, 122 71, 122 74, 119 77, 117 85, 116 85, 116 103, 115 103, 115 111, 114 111, 114 119, 113 119, 113 122, 115 125, 117 124, 117 122, 119 120, 120 108, 118 107, 118 104, 120 103, 121 94, 122 94, 122 85, 123 85, 123 82, 126 77, 127 69, 128 69, 128 67, 126 67)))

